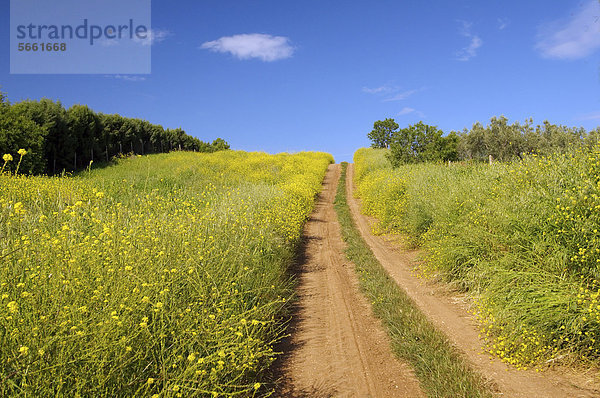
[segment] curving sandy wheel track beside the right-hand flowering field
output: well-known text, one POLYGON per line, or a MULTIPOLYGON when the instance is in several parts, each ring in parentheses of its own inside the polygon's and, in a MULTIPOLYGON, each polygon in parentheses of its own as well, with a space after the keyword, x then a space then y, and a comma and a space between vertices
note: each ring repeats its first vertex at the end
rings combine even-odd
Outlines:
POLYGON ((473 316, 467 313, 463 297, 449 293, 443 286, 426 282, 413 276, 416 252, 399 248, 389 238, 371 233, 373 219, 362 215, 359 203, 353 196, 354 165, 349 165, 346 192, 348 205, 365 241, 387 270, 435 326, 455 344, 503 397, 600 397, 594 386, 593 375, 570 374, 549 370, 518 371, 498 359, 482 353, 483 341, 473 316))

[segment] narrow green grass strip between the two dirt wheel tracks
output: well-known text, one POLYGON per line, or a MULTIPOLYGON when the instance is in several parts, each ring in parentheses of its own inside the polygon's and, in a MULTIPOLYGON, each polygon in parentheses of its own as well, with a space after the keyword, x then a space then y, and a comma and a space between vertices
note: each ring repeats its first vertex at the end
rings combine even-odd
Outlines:
POLYGON ((356 265, 361 289, 385 325, 395 353, 413 367, 430 397, 491 397, 483 379, 391 279, 360 236, 347 203, 346 167, 342 163, 335 199, 346 255, 356 265))

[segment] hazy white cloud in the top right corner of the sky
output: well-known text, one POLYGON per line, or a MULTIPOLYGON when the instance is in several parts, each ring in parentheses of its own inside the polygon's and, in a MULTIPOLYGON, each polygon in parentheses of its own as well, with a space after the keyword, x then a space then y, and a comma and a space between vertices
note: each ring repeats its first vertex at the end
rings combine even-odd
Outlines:
POLYGON ((536 49, 545 58, 584 58, 600 47, 600 3, 581 4, 566 19, 538 27, 536 49))

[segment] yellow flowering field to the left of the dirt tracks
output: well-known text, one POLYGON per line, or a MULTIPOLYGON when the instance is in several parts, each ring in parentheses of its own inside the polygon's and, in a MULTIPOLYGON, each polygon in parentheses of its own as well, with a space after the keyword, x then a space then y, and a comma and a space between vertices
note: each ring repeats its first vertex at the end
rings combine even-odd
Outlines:
POLYGON ((178 152, 0 175, 0 396, 267 392, 332 161, 178 152))

